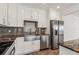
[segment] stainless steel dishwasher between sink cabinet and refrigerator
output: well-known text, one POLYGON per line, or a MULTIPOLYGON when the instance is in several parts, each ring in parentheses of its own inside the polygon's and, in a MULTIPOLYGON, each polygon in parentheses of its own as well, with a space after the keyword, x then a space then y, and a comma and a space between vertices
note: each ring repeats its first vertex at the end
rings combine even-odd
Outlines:
POLYGON ((40 49, 49 48, 49 35, 41 35, 40 49))

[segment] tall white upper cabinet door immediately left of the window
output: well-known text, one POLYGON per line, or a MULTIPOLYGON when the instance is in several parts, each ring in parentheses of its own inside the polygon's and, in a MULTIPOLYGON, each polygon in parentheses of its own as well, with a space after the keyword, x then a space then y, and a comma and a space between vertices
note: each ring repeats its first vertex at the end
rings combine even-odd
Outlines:
POLYGON ((24 27, 24 8, 18 6, 18 27, 24 27))

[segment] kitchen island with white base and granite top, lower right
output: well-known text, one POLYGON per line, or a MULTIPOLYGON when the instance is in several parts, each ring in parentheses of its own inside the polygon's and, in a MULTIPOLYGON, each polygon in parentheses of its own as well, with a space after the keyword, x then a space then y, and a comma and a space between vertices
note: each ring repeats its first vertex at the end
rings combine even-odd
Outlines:
POLYGON ((79 55, 79 39, 59 44, 60 55, 79 55))

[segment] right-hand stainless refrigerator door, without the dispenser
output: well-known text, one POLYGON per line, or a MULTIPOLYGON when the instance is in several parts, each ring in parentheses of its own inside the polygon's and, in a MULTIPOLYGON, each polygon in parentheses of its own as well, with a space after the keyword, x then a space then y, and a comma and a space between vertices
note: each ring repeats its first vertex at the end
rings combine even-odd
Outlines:
POLYGON ((59 21, 59 43, 63 44, 64 40, 64 22, 59 21))

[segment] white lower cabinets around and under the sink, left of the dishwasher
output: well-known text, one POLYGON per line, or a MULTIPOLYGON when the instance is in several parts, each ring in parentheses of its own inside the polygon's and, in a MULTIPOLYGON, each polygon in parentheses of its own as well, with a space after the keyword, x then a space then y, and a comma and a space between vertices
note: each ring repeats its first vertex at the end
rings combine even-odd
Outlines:
POLYGON ((40 40, 24 41, 24 37, 15 40, 15 55, 29 54, 40 50, 40 40))

